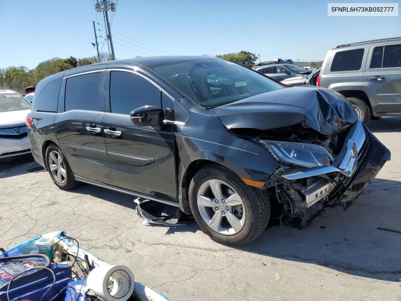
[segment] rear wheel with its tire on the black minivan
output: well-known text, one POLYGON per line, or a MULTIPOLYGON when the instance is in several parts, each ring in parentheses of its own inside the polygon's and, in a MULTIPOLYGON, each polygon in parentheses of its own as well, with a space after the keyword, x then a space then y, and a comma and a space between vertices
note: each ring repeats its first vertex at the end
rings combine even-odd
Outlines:
POLYGON ((80 184, 79 181, 75 180, 74 173, 68 164, 64 153, 58 146, 54 144, 48 146, 45 158, 47 170, 57 187, 62 190, 69 190, 80 184), (55 161, 57 161, 57 163, 55 161))

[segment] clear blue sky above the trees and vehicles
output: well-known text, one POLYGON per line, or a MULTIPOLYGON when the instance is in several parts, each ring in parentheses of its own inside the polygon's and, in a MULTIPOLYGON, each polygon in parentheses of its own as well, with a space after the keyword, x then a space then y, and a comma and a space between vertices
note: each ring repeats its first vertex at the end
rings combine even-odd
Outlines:
MULTIPOLYGON (((277 57, 311 61, 324 59, 326 52, 339 44, 401 36, 401 16, 328 17, 327 3, 118 0, 111 24, 116 32, 112 32, 115 56, 157 55, 145 44, 163 54, 217 55, 246 50, 260 54, 262 61, 277 57)), ((95 55, 96 49, 90 45, 95 41, 93 20, 99 20, 104 31, 102 14, 95 12, 93 0, 0 0, 0 67, 34 68, 52 57, 95 55)), ((99 38, 100 45, 103 40, 99 38)))

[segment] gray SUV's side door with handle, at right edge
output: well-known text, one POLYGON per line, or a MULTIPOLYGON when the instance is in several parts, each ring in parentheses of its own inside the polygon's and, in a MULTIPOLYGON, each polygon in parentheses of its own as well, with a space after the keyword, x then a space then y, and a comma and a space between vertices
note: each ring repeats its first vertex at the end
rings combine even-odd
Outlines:
POLYGON ((374 47, 363 85, 376 96, 375 113, 401 113, 401 45, 374 47), (383 55, 384 51, 384 55, 383 55))

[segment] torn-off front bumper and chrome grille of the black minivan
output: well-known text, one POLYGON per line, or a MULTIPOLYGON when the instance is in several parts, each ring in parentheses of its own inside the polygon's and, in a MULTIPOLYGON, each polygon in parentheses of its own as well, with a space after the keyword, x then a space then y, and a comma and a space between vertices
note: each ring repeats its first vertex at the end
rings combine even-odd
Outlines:
POLYGON ((348 208, 390 160, 390 151, 358 120, 332 165, 281 173, 279 201, 303 222, 328 205, 348 208))

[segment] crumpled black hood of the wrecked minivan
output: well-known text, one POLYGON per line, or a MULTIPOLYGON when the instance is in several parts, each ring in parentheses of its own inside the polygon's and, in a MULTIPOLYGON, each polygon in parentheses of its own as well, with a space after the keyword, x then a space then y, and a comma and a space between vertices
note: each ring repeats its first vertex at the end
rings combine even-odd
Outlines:
POLYGON ((279 89, 213 110, 227 128, 267 130, 300 123, 324 135, 358 120, 351 106, 336 92, 310 86, 279 89))

